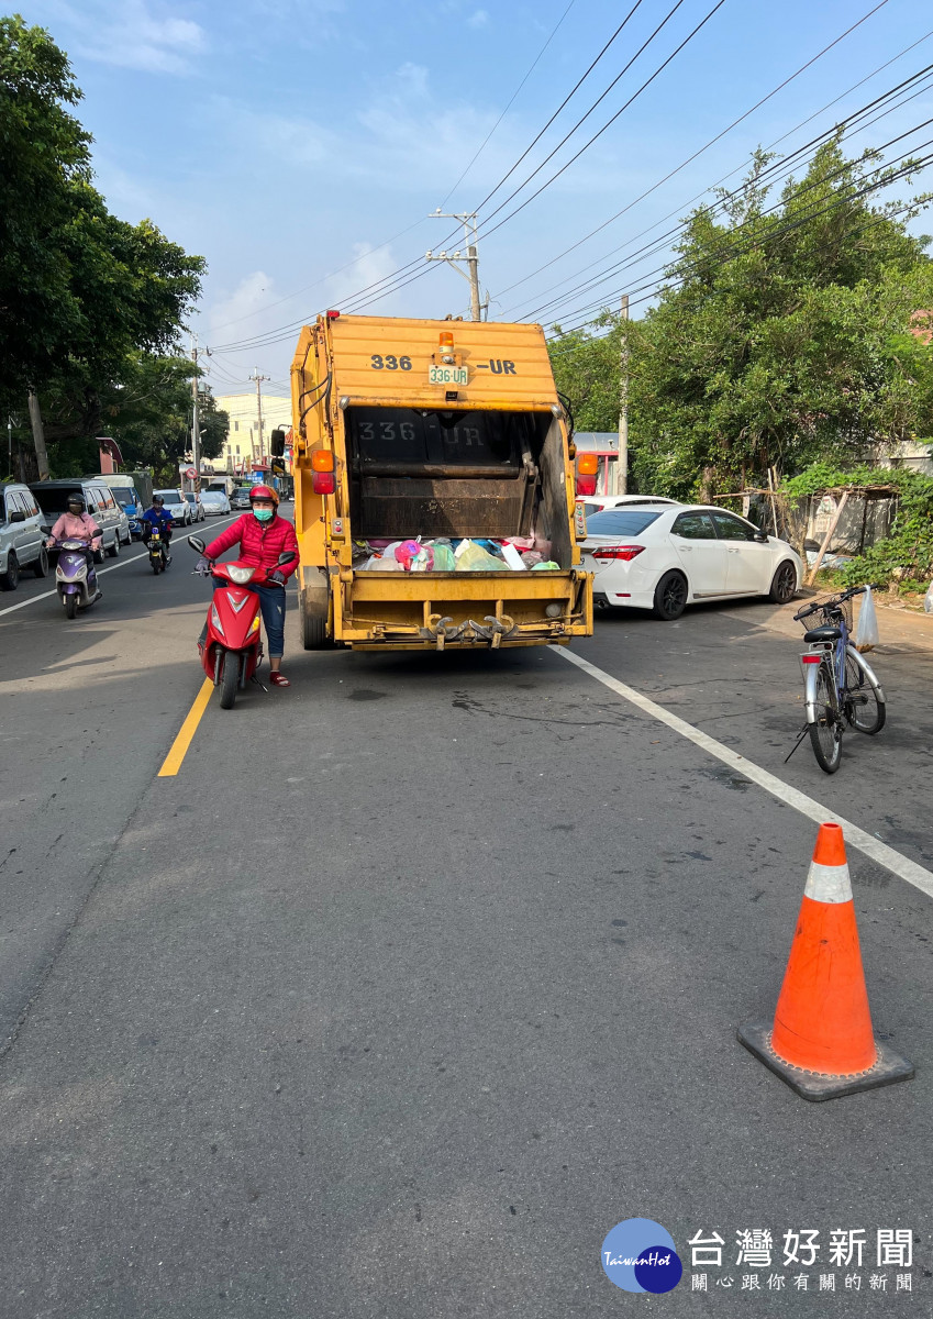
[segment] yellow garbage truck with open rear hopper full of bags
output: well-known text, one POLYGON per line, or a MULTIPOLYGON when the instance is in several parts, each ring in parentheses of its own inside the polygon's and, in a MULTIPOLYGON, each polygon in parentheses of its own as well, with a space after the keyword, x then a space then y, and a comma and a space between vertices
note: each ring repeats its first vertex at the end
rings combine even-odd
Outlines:
POLYGON ((592 634, 540 326, 328 311, 302 330, 291 398, 306 649, 592 634))

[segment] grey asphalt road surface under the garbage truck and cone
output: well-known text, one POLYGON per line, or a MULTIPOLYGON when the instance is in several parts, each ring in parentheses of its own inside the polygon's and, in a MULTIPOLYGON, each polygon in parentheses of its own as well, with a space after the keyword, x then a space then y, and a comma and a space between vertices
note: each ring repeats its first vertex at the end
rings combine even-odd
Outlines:
MULTIPOLYGON (((933 900, 850 851, 875 1026, 917 1076, 805 1104, 735 1028, 774 1010, 808 819, 556 650, 306 654, 294 612, 294 686, 212 702, 157 778, 202 681, 187 554, 74 624, 0 613, 4 1319, 929 1315, 933 900), (635 1216, 687 1265, 667 1295, 602 1273, 635 1216), (756 1228, 771 1269, 734 1262, 756 1228), (904 1228, 911 1293, 875 1266, 904 1228)), ((933 869, 929 654, 882 648, 888 727, 828 778, 781 764, 800 648, 770 605, 576 649, 933 869)))

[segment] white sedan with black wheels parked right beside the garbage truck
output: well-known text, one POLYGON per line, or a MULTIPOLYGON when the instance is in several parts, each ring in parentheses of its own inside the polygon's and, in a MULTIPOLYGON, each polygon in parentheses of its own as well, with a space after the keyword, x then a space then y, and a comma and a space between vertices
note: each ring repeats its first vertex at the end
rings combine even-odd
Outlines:
POLYGON ((767 595, 787 604, 803 562, 787 541, 705 504, 630 505, 586 518, 582 566, 597 609, 654 609, 677 619, 697 600, 767 595))

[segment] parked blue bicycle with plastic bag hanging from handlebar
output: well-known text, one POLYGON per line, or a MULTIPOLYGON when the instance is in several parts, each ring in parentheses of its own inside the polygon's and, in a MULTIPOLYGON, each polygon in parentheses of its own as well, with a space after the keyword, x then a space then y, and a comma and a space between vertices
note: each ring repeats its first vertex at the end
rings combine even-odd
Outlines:
POLYGON ((868 661, 849 640, 853 627, 851 601, 866 590, 867 587, 855 586, 816 600, 793 616, 801 620, 818 613, 822 619, 818 627, 804 633, 809 650, 800 657, 800 662, 806 711, 804 733, 809 731, 813 754, 820 769, 828 774, 834 774, 842 761, 842 733, 846 727, 870 736, 884 727, 882 685, 868 661))

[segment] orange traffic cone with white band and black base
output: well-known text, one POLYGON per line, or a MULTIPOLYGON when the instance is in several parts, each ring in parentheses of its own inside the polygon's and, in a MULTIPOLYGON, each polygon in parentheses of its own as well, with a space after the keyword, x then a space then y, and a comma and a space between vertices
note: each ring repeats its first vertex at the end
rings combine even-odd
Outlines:
POLYGON ((839 824, 821 824, 772 1026, 738 1038, 803 1099, 834 1099, 913 1076, 875 1039, 839 824))

